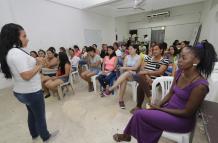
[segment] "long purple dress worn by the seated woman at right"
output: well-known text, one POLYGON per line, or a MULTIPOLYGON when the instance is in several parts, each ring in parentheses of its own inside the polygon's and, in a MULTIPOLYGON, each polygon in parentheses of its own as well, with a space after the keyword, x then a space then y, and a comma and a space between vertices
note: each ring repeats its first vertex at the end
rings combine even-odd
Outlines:
MULTIPOLYGON (((180 75, 181 71, 177 71, 176 81, 180 75)), ((194 81, 182 89, 173 85, 173 96, 163 108, 184 109, 192 89, 201 84, 208 87, 205 79, 194 81)), ((185 118, 159 110, 138 110, 129 121, 124 134, 135 137, 138 143, 157 143, 163 131, 187 133, 194 126, 195 115, 185 118)))

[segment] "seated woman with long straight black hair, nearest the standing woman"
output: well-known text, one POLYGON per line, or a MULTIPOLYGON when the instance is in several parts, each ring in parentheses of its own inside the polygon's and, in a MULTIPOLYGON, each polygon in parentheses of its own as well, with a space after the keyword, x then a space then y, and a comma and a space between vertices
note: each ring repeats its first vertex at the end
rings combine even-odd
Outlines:
POLYGON ((56 76, 50 77, 50 79, 45 82, 45 87, 52 91, 57 91, 58 85, 67 82, 71 73, 71 64, 67 57, 67 54, 64 52, 60 52, 58 57, 59 65, 56 76))

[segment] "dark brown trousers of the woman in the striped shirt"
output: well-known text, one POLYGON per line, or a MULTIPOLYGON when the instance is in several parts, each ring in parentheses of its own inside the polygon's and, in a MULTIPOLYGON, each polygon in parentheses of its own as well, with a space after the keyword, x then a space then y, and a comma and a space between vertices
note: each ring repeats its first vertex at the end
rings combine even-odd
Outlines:
POLYGON ((147 82, 147 79, 144 75, 134 75, 134 80, 138 82, 137 87, 137 107, 141 108, 145 99, 145 95, 147 97, 151 96, 151 86, 147 82))

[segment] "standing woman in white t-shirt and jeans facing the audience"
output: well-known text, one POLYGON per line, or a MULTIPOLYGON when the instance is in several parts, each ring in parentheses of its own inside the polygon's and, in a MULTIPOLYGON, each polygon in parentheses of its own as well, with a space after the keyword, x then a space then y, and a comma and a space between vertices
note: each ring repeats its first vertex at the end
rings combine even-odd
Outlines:
POLYGON ((6 24, 0 33, 0 63, 6 78, 13 78, 15 97, 26 105, 28 126, 32 139, 40 136, 44 142, 53 140, 58 133, 47 130, 45 102, 39 71, 43 60, 34 59, 23 49, 28 39, 24 29, 17 24, 6 24))

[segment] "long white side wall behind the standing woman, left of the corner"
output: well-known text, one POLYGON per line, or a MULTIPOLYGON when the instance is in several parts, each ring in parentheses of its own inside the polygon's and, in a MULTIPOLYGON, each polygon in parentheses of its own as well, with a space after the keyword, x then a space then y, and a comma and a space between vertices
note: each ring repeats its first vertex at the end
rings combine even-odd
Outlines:
MULTIPOLYGON (((13 22, 24 27, 29 50, 85 44, 84 29, 101 30, 102 42, 115 41, 115 20, 47 0, 0 0, 0 27, 13 22)), ((5 87, 0 76, 0 89, 5 87)), ((8 85, 8 82, 5 84, 8 85)))

